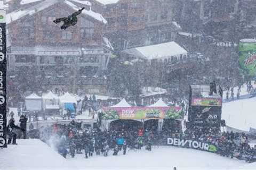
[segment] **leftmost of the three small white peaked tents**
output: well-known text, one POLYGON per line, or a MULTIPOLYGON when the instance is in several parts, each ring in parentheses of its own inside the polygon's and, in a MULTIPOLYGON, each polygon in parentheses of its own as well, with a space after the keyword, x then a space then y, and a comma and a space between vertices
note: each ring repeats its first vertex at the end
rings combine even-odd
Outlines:
POLYGON ((42 97, 35 93, 25 98, 27 111, 41 111, 42 110, 42 97))

